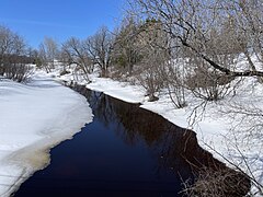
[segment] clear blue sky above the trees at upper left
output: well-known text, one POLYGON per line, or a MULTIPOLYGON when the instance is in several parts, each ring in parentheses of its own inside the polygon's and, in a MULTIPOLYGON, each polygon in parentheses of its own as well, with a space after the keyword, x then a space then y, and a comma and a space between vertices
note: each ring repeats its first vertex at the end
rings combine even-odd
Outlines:
POLYGON ((124 14, 125 0, 1 0, 0 24, 37 48, 45 36, 64 42, 84 38, 106 25, 112 30, 124 14))

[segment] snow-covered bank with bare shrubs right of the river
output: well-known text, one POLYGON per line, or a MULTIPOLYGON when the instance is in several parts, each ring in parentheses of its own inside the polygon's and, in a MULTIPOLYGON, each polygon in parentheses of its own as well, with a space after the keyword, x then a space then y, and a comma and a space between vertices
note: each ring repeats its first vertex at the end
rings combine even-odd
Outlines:
MULTIPOLYGON (((70 81, 72 76, 62 76, 59 79, 70 81)), ((92 82, 87 84, 88 89, 104 92, 126 102, 141 103, 140 107, 160 114, 180 127, 193 129, 204 149, 214 153, 214 157, 222 162, 226 162, 226 159, 231 161, 263 184, 263 147, 260 142, 263 137, 262 127, 259 127, 258 134, 250 132, 250 128, 254 125, 263 124, 252 121, 245 112, 239 111, 239 115, 235 114, 237 107, 259 108, 263 112, 263 85, 256 82, 258 79, 242 80, 236 89, 236 96, 229 95, 216 103, 204 102, 188 93, 187 106, 184 108, 175 108, 165 92, 160 93, 159 101, 147 102, 141 86, 94 76, 90 79, 92 82)), ((81 80, 78 82, 84 84, 81 80)), ((233 165, 230 166, 233 167, 233 165)), ((253 192, 256 192, 254 187, 253 192)))

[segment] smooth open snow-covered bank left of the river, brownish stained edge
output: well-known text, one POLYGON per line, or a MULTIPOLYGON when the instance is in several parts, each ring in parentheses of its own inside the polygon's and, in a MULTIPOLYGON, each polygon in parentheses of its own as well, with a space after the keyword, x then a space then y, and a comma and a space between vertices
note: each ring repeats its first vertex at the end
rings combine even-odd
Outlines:
POLYGON ((49 163, 49 150, 92 121, 85 99, 45 74, 0 81, 0 196, 49 163))

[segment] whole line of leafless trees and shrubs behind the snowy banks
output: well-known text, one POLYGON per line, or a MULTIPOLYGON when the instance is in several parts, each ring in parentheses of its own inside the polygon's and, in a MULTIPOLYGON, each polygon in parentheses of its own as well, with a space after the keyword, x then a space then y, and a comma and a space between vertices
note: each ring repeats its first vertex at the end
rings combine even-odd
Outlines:
POLYGON ((60 44, 46 37, 34 50, 1 26, 0 74, 8 76, 18 65, 14 57, 22 56, 47 72, 55 60, 77 65, 87 81, 96 66, 101 77, 135 77, 151 100, 167 88, 176 107, 183 107, 185 89, 216 101, 229 93, 232 79, 260 79, 254 57, 262 62, 262 32, 261 0, 136 0, 112 32, 103 26, 85 39, 60 44), (249 62, 243 70, 237 68, 240 54, 249 62))

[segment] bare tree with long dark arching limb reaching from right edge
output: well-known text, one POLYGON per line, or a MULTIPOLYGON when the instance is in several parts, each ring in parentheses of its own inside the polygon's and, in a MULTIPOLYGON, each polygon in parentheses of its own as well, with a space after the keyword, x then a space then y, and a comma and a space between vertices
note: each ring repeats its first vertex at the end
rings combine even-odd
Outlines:
MULTIPOLYGON (((242 5, 240 2, 244 1, 230 2, 235 2, 240 10, 242 5)), ((229 67, 230 65, 218 60, 218 56, 224 51, 236 50, 237 46, 242 48, 247 45, 243 34, 231 35, 232 42, 229 44, 224 42, 227 45, 215 42, 214 32, 220 33, 222 23, 229 19, 229 12, 233 11, 232 4, 214 0, 136 0, 130 3, 136 3, 135 8, 139 8, 142 18, 155 18, 163 24, 163 31, 173 39, 173 47, 188 48, 210 67, 228 76, 263 76, 262 71, 253 69, 236 71, 229 67), (222 47, 216 47, 217 44, 222 47)), ((259 13, 262 16, 262 12, 259 13)))

